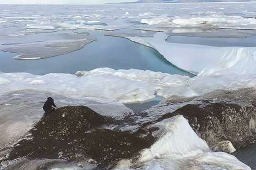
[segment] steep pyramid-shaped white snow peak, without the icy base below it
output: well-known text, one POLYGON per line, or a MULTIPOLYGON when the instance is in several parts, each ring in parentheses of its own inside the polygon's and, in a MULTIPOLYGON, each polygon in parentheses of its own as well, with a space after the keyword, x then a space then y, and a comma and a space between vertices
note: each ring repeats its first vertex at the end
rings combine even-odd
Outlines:
POLYGON ((183 116, 164 119, 155 126, 160 128, 158 132, 160 134, 154 136, 160 135, 160 138, 150 149, 143 151, 140 161, 148 161, 165 155, 181 159, 210 151, 207 143, 197 136, 183 116))

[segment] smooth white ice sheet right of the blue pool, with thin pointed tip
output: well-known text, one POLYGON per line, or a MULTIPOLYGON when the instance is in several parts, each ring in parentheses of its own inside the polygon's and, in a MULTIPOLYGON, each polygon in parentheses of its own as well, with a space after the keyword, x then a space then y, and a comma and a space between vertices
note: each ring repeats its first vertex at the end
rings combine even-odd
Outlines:
POLYGON ((133 37, 127 34, 113 34, 113 36, 125 37, 154 48, 172 64, 197 74, 182 85, 159 89, 157 95, 164 98, 193 97, 217 89, 236 90, 256 85, 255 47, 213 47, 170 43, 165 41, 168 35, 164 33, 156 33, 154 37, 133 37))

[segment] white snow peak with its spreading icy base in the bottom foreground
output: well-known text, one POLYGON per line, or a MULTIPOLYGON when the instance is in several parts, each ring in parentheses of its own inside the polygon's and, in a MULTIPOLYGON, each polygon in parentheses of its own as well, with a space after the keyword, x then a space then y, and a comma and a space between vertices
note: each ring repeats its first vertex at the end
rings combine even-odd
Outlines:
POLYGON ((165 119, 153 126, 160 129, 159 136, 140 156, 145 170, 251 170, 235 156, 211 152, 183 116, 165 119))

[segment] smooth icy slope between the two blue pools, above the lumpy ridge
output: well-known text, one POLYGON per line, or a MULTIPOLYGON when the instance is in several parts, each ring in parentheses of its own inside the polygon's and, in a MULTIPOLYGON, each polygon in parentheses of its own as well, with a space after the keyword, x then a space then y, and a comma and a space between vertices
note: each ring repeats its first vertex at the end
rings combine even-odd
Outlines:
POLYGON ((250 74, 256 71, 253 67, 256 62, 255 47, 178 44, 166 42, 167 37, 164 33, 157 33, 153 38, 145 39, 169 62, 183 70, 199 75, 212 75, 224 69, 232 70, 235 74, 250 74))

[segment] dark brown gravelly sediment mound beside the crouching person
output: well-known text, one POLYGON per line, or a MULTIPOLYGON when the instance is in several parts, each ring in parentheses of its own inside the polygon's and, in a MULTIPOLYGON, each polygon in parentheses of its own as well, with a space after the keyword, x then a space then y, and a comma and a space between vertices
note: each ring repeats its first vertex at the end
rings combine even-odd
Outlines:
POLYGON ((99 115, 85 106, 67 106, 44 116, 29 131, 30 136, 15 144, 7 160, 93 159, 93 164, 109 169, 122 159, 131 159, 150 144, 136 134, 101 128, 119 121, 99 115))

